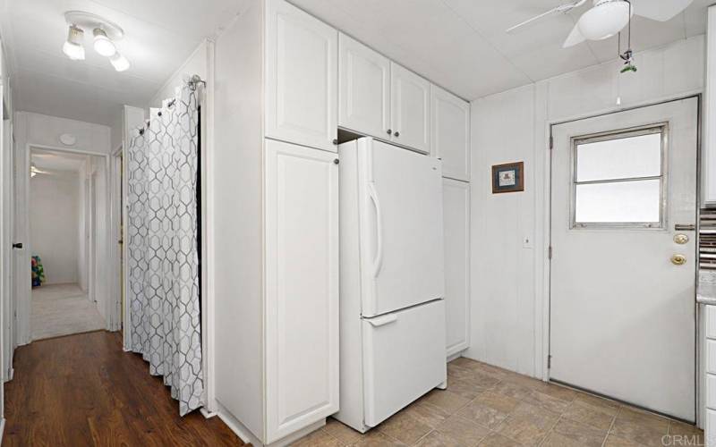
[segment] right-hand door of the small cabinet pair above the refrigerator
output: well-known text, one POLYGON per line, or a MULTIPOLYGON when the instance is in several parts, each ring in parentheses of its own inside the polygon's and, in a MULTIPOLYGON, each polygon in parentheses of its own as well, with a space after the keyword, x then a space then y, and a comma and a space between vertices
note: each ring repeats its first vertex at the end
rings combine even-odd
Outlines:
POLYGON ((430 153, 430 82, 397 63, 390 63, 392 140, 430 153))

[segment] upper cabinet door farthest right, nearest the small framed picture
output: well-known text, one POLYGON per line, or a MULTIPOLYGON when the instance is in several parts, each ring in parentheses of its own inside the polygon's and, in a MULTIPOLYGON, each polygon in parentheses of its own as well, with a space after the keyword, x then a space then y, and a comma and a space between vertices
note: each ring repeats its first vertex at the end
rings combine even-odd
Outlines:
POLYGON ((432 155, 442 159, 442 174, 470 181, 470 105, 455 95, 430 86, 432 155))

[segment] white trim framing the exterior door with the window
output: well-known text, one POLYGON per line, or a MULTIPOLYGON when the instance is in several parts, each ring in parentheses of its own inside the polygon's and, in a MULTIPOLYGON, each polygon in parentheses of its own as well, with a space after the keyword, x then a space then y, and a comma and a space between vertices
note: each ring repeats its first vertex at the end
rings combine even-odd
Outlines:
MULTIPOLYGON (((600 113, 596 114, 579 114, 571 117, 566 117, 558 120, 550 121, 549 119, 546 120, 545 125, 545 133, 544 133, 544 148, 545 150, 538 150, 537 151, 537 157, 535 160, 535 164, 540 163, 540 157, 542 158, 542 166, 544 169, 544 176, 543 176, 543 184, 542 184, 542 190, 537 191, 537 202, 538 202, 538 208, 539 209, 539 203, 542 202, 542 212, 543 212, 543 218, 541 219, 541 232, 538 229, 538 234, 541 233, 542 238, 542 250, 541 250, 541 260, 538 262, 538 265, 541 265, 543 268, 543 275, 541 277, 541 281, 543 282, 541 287, 541 294, 539 293, 538 288, 538 296, 537 296, 537 308, 541 308, 541 321, 535 321, 535 323, 539 323, 540 325, 536 326, 535 329, 535 376, 538 378, 541 378, 544 382, 550 381, 550 277, 551 277, 551 261, 550 261, 550 246, 551 246, 551 180, 552 180, 552 169, 551 169, 551 159, 552 159, 552 136, 553 136, 553 130, 555 126, 558 126, 560 124, 566 124, 568 122, 575 122, 580 120, 586 120, 590 118, 597 118, 604 115, 609 114, 618 114, 621 112, 627 112, 630 110, 640 109, 644 107, 649 107, 653 105, 663 105, 671 102, 681 101, 685 99, 690 98, 696 98, 697 101, 697 120, 696 120, 696 210, 697 214, 700 212, 702 207, 702 196, 701 196, 701 179, 702 179, 702 160, 703 160, 703 93, 701 91, 695 91, 695 92, 689 92, 685 95, 676 96, 676 97, 664 97, 657 101, 652 102, 644 102, 644 103, 638 103, 635 105, 630 105, 628 107, 621 107, 621 108, 614 108, 609 110, 601 111, 600 113), (541 196, 541 197, 540 197, 541 196)), ((545 111, 546 113, 546 111, 545 111)), ((538 220, 539 222, 539 220, 538 220)), ((699 218, 697 215, 696 219, 696 225, 697 225, 697 231, 696 235, 698 237, 698 222, 699 218)), ((697 243, 698 245, 698 243, 697 243)), ((539 252, 539 250, 538 250, 539 252)), ((695 283, 698 283, 698 269, 696 269, 696 275, 694 278, 695 283)), ((695 352, 695 371, 696 371, 696 377, 695 377, 695 393, 696 393, 696 423, 698 426, 702 426, 703 421, 703 411, 698 405, 698 402, 700 401, 700 397, 702 394, 702 384, 701 380, 699 380, 699 364, 701 362, 701 350, 699 349, 700 343, 698 342, 700 339, 700 331, 699 331, 699 325, 698 325, 698 312, 695 314, 695 337, 696 337, 696 352, 695 352)), ((540 316, 535 316, 535 320, 540 318, 540 316)))

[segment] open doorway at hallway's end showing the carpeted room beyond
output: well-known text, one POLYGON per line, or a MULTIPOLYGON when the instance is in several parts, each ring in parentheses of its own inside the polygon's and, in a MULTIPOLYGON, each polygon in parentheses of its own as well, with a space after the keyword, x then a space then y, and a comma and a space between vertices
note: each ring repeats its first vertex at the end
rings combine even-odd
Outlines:
POLYGON ((106 157, 30 147, 32 341, 107 328, 106 157))

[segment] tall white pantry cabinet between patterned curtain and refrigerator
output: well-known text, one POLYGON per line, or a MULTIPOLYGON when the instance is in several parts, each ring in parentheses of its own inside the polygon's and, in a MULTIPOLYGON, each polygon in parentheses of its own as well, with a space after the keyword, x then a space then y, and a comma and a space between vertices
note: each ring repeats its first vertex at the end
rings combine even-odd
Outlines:
POLYGON ((214 406, 269 445, 338 410, 338 33, 250 3, 216 42, 214 406))

